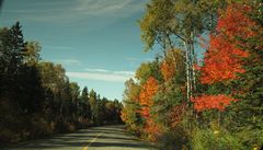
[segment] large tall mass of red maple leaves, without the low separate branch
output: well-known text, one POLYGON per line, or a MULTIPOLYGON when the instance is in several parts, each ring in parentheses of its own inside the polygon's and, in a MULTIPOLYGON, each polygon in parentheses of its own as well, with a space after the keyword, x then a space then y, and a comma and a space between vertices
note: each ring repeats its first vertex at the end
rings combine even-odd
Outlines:
POLYGON ((248 38, 255 33, 251 30, 254 22, 247 12, 250 8, 241 4, 229 5, 218 20, 216 32, 210 35, 209 47, 205 54, 204 67, 201 68, 202 83, 215 83, 237 79, 237 73, 243 73, 240 58, 248 53, 240 49, 242 45, 237 37, 248 38))

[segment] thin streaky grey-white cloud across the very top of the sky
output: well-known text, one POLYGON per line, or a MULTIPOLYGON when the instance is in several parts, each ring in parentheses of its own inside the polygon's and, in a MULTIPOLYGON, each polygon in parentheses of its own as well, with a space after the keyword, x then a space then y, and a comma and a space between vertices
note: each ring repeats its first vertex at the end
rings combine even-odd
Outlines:
MULTIPOLYGON (((147 0, 76 0, 24 2, 23 7, 4 9, 24 21, 76 23, 90 18, 126 18, 142 11, 147 0)), ((3 5, 4 7, 4 5, 3 5)))

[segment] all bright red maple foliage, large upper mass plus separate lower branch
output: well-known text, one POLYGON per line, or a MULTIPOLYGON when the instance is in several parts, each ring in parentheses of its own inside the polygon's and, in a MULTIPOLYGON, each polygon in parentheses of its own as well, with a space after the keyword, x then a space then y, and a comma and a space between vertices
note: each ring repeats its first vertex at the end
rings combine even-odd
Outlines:
MULTIPOLYGON (((248 13, 251 8, 245 4, 230 4, 220 12, 216 32, 210 34, 207 53, 205 53, 204 66, 201 70, 201 82, 213 84, 227 83, 238 78, 238 73, 244 73, 242 58, 249 56, 241 49, 244 43, 238 38, 250 38, 256 33, 252 30, 255 23, 248 13)), ((224 111, 227 105, 237 100, 230 95, 201 95, 191 100, 198 112, 205 109, 224 111)))

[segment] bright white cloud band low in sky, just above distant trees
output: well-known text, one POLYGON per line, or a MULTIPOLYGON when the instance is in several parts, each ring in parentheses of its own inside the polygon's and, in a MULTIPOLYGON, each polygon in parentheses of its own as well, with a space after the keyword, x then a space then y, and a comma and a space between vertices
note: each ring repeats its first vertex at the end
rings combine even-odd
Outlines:
POLYGON ((124 82, 134 77, 133 71, 111 71, 105 69, 85 69, 87 72, 67 72, 68 77, 107 82, 124 82))

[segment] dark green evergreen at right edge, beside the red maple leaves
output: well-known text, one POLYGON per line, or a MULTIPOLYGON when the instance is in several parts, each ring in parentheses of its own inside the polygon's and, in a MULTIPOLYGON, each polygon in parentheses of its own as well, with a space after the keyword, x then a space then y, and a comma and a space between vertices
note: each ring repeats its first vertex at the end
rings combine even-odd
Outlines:
POLYGON ((247 27, 256 34, 237 36, 239 46, 249 53, 249 57, 243 59, 245 72, 238 74, 238 80, 231 84, 233 95, 239 101, 229 108, 231 117, 228 120, 231 124, 228 127, 251 149, 263 145, 263 10, 260 0, 244 3, 252 8, 251 12, 244 13, 255 23, 247 27))

